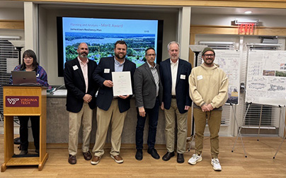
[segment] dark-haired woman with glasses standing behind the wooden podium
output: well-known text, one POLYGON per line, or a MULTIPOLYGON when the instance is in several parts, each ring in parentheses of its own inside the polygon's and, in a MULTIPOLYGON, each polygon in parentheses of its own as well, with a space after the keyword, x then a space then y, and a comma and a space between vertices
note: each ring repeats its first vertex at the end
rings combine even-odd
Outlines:
MULTIPOLYGON (((49 87, 47 83, 47 73, 39 66, 37 57, 33 50, 26 50, 23 53, 23 61, 21 65, 15 67, 14 71, 35 71, 37 82, 45 87, 49 87)), ((13 84, 12 76, 10 77, 10 84, 13 84)), ((35 145, 35 153, 39 153, 39 138, 40 138, 40 117, 39 116, 19 116, 20 121, 20 140, 21 140, 21 153, 26 155, 28 153, 28 121, 32 125, 32 132, 35 145)))

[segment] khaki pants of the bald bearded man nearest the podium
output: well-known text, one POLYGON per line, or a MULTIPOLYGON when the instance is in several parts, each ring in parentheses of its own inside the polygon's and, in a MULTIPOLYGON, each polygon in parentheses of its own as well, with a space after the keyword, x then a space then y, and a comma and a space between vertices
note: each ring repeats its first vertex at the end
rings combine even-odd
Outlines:
POLYGON ((76 155, 79 143, 79 129, 82 124, 82 152, 89 150, 89 141, 91 139, 93 110, 84 102, 81 110, 77 113, 69 112, 69 154, 76 155))

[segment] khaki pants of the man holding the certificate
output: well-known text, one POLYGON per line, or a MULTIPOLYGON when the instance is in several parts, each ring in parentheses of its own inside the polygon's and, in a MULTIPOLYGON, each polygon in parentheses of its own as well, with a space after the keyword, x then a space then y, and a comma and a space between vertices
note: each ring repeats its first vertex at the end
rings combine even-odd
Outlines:
POLYGON ((127 112, 120 113, 118 100, 111 102, 110 108, 105 111, 97 107, 96 121, 96 143, 93 146, 94 155, 101 157, 104 154, 104 145, 111 124, 111 151, 110 155, 119 155, 121 146, 121 134, 127 112))

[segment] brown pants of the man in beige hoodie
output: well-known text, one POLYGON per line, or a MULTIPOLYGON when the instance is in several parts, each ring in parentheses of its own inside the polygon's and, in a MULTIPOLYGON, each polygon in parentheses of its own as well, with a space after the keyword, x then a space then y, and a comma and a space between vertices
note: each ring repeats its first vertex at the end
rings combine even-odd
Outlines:
POLYGON ((212 158, 219 155, 219 128, 222 120, 222 111, 212 110, 211 112, 202 112, 202 109, 194 108, 195 117, 195 153, 200 155, 203 148, 205 124, 210 130, 210 147, 212 158))

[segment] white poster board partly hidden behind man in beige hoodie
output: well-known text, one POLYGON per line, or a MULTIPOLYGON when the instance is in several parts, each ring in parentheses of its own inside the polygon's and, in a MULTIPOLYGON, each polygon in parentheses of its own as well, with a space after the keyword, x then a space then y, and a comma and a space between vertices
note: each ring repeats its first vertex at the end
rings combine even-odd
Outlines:
POLYGON ((224 70, 229 78, 226 104, 239 104, 241 55, 236 50, 214 50, 214 63, 224 70))

